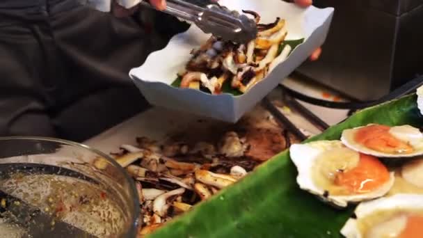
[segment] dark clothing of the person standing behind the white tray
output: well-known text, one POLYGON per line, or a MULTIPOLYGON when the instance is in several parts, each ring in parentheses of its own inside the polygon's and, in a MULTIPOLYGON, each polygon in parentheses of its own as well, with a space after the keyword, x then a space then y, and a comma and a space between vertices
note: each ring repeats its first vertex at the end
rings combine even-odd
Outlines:
POLYGON ((76 0, 0 1, 0 136, 83 141, 142 111, 128 72, 154 39, 76 0))

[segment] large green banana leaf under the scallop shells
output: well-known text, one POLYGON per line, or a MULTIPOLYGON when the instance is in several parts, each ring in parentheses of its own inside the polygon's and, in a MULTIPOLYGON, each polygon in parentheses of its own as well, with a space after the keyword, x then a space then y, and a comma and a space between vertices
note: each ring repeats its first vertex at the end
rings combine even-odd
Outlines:
MULTIPOLYGON (((308 141, 339 139, 342 130, 369 123, 420 127, 416 99, 408 95, 364 109, 308 141)), ((322 203, 298 188, 296 175, 289 152, 282 152, 149 237, 342 237, 354 207, 322 203)))

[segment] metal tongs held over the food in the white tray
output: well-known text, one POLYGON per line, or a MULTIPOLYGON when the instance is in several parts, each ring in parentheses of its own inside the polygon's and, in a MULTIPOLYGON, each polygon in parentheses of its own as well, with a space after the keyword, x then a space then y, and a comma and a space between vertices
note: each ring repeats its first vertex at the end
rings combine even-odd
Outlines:
MULTIPOLYGON (((141 4, 151 7, 147 0, 141 4)), ((223 40, 246 43, 257 36, 254 19, 210 0, 167 0, 163 12, 193 22, 205 33, 223 40)))

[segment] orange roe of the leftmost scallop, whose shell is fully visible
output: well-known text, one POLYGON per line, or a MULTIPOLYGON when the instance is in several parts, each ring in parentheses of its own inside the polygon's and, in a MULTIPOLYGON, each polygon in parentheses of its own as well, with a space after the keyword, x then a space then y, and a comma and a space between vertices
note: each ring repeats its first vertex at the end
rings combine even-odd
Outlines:
POLYGON ((358 165, 351 170, 337 173, 335 184, 346 188, 350 194, 368 193, 388 182, 388 168, 376 157, 360 154, 358 165))

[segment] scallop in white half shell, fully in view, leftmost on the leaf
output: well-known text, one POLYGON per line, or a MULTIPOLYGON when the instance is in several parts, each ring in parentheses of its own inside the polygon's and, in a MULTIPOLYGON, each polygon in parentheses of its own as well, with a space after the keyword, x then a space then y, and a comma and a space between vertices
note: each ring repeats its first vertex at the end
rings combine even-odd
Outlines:
POLYGON ((376 157, 346 148, 341 141, 294 144, 289 152, 299 187, 337 207, 379 198, 394 183, 394 173, 376 157))

